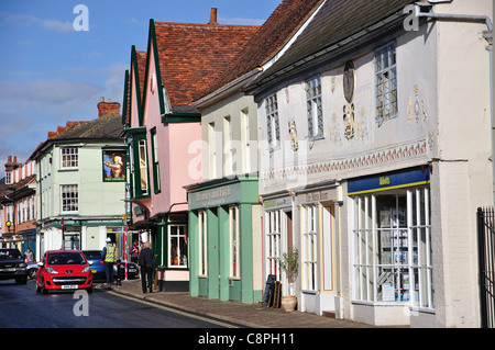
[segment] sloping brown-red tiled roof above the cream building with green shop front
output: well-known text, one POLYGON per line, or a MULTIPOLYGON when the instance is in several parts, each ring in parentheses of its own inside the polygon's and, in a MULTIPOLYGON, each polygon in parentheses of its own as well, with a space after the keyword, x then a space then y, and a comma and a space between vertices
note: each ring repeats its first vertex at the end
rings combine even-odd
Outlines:
MULTIPOLYGON (((294 36, 323 0, 284 0, 242 52, 216 80, 195 95, 199 99, 272 59, 294 36)), ((350 1, 352 2, 352 1, 350 1)))

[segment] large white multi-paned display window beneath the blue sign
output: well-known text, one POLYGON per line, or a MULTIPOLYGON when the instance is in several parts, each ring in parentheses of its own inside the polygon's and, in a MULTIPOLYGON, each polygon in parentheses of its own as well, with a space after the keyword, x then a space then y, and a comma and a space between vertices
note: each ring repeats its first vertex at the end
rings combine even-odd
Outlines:
POLYGON ((428 188, 353 197, 353 298, 433 308, 428 188))

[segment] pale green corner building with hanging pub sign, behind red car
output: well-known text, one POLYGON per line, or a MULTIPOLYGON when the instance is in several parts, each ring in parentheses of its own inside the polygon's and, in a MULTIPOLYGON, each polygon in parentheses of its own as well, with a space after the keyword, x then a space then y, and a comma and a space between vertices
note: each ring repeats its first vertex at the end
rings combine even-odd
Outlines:
POLYGON ((38 256, 48 249, 102 249, 121 255, 125 225, 127 147, 120 103, 98 103, 98 118, 67 122, 31 156, 37 162, 38 256))

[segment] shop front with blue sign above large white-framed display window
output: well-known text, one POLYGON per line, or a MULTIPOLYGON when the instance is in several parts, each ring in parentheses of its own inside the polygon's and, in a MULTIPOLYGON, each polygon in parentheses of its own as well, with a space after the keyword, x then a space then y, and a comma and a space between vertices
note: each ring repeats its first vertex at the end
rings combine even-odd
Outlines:
POLYGON ((348 182, 355 320, 409 324, 435 312, 428 166, 348 182))

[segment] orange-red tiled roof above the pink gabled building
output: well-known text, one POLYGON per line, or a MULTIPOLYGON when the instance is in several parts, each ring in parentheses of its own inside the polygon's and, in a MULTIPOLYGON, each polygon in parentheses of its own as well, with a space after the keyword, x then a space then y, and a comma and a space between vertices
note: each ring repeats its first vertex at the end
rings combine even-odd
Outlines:
POLYGON ((260 26, 155 22, 162 84, 172 106, 208 89, 260 26))

